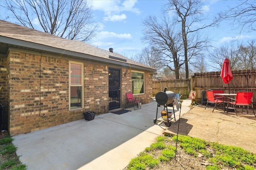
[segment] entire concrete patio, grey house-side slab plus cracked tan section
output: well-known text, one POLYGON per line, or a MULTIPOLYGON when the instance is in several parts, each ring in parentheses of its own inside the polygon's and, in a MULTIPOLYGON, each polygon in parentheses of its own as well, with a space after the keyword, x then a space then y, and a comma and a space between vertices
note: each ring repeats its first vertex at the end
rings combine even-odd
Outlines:
POLYGON ((256 153, 253 114, 236 116, 221 108, 212 112, 212 108, 200 105, 190 109, 190 104, 190 99, 182 103, 180 121, 180 112, 175 110, 176 122, 170 127, 160 121, 153 123, 157 103, 152 101, 122 115, 106 113, 92 121, 83 119, 14 136, 13 143, 28 170, 122 170, 156 137, 176 134, 178 127, 179 134, 256 153))

